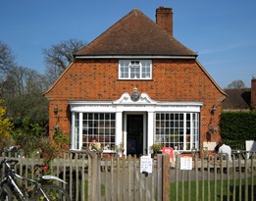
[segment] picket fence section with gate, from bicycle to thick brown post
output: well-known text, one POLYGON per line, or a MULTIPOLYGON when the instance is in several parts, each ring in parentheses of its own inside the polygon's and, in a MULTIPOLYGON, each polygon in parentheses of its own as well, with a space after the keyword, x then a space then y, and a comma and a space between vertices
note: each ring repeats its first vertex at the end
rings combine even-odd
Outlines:
MULTIPOLYGON (((35 177, 32 174, 34 165, 43 163, 38 157, 16 159, 20 160, 16 172, 22 176, 35 177)), ((158 155, 152 173, 140 173, 140 161, 136 156, 109 160, 102 159, 100 152, 84 150, 54 159, 47 175, 66 180, 67 184, 57 184, 69 191, 73 201, 170 200, 170 159, 167 155, 158 155)), ((23 182, 20 184, 29 185, 23 182)))

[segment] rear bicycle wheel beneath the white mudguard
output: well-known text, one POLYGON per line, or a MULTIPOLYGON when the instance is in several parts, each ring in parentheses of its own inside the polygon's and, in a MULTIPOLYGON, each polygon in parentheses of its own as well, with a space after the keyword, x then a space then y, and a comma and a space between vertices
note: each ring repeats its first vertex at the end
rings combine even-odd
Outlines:
MULTIPOLYGON (((41 190, 51 201, 71 201, 69 193, 59 185, 45 185, 41 187, 41 190)), ((35 196, 36 201, 47 200, 41 190, 35 196)))

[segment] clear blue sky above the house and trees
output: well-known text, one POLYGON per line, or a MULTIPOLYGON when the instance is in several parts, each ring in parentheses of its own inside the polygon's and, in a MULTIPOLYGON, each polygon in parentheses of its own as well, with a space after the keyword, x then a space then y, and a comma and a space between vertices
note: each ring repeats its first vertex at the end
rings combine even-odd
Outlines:
POLYGON ((43 48, 72 38, 90 42, 133 8, 155 22, 173 8, 174 36, 198 53, 221 87, 256 77, 256 0, 9 0, 0 6, 0 40, 19 66, 43 74, 43 48))

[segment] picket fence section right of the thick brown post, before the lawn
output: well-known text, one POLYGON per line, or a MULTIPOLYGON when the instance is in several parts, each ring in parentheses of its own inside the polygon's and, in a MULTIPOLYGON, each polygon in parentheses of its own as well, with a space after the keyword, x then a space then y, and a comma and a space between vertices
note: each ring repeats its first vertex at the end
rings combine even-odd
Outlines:
POLYGON ((171 170, 172 201, 256 200, 255 152, 233 152, 231 161, 226 160, 226 155, 195 153, 190 171, 180 170, 181 157, 179 155, 176 167, 171 170))

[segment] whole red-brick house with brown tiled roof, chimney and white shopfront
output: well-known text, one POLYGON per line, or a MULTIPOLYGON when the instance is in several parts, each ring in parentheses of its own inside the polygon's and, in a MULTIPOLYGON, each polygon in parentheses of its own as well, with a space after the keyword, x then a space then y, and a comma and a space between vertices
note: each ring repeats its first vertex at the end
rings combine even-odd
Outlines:
POLYGON ((156 23, 133 9, 76 54, 46 91, 50 134, 70 134, 72 150, 93 137, 148 154, 153 143, 200 149, 220 138, 226 93, 173 36, 173 10, 156 23))

